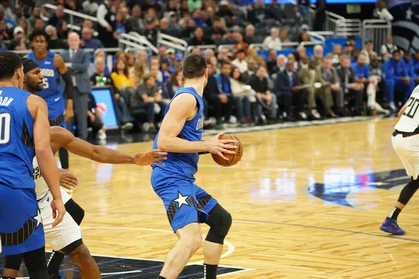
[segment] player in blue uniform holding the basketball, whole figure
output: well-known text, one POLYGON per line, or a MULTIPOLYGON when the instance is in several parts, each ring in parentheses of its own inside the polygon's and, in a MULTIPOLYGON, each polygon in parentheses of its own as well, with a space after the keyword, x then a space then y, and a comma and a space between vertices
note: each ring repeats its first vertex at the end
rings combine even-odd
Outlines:
POLYGON ((168 152, 166 165, 152 165, 152 186, 166 207, 178 241, 166 257, 159 278, 175 279, 202 244, 200 223, 210 226, 204 243, 204 278, 216 278, 223 242, 232 222, 230 213, 194 184, 200 152, 235 154, 234 140, 207 142, 203 134, 203 90, 208 80, 205 57, 191 54, 183 65, 184 86, 166 108, 153 149, 168 152))

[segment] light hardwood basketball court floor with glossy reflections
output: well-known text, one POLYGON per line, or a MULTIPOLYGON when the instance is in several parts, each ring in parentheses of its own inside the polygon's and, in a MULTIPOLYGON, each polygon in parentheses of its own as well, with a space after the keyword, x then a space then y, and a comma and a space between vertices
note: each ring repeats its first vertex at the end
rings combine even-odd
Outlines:
MULTIPOLYGON (((418 278, 418 198, 399 216, 405 236, 379 229, 406 183, 390 140, 396 121, 239 134, 244 157, 235 167, 201 156, 196 183, 233 216, 220 264, 252 269, 225 278, 418 278)), ((80 181, 73 198, 86 211, 82 232, 92 254, 165 258, 176 236, 149 167, 71 156, 71 171, 80 181)), ((202 261, 201 249, 191 262, 202 261)))

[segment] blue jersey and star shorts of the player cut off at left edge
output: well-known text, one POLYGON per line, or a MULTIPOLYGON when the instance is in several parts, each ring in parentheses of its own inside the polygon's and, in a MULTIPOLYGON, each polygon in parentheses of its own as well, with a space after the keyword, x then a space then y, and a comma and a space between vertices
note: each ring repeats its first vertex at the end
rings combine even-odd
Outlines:
POLYGON ((34 118, 29 92, 0 87, 0 239, 3 255, 45 246, 41 212, 36 202, 34 118))

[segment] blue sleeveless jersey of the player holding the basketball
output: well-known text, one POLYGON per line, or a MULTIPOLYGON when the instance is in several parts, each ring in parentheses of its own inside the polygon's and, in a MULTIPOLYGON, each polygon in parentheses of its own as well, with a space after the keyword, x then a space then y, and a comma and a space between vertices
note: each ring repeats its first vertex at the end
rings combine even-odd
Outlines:
MULTIPOLYGON (((177 89, 175 96, 173 96, 172 100, 176 98, 179 94, 192 94, 196 100, 198 105, 198 113, 196 114, 193 119, 186 121, 184 127, 180 131, 177 137, 182 138, 183 140, 189 140, 190 142, 198 142, 201 140, 203 135, 203 110, 204 110, 204 103, 203 98, 196 93, 196 90, 192 87, 181 87, 177 89)), ((172 102, 170 100, 170 103, 172 102)), ((168 113, 170 103, 166 107, 165 115, 168 113)), ((156 135, 154 139, 153 149, 157 149, 157 139, 159 138, 159 134, 156 135)), ((167 172, 174 172, 176 174, 181 174, 187 177, 193 177, 196 172, 198 172, 198 160, 199 155, 198 153, 168 153, 168 159, 164 161, 165 165, 152 165, 153 168, 159 167, 164 169, 167 172)))

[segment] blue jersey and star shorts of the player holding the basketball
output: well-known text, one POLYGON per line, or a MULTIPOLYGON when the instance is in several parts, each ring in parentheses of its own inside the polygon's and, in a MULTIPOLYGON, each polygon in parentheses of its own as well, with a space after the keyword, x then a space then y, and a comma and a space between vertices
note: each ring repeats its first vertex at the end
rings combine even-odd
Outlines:
MULTIPOLYGON (((203 135, 203 98, 192 87, 181 87, 172 100, 180 94, 191 94, 196 98, 198 113, 185 122, 177 137, 191 142, 200 141, 203 135)), ((158 148, 158 139, 159 134, 154 139, 153 149, 158 148)), ((194 175, 198 172, 198 153, 169 152, 167 157, 164 166, 152 165, 151 182, 154 192, 163 200, 173 232, 190 223, 205 223, 217 201, 194 183, 194 175)))

